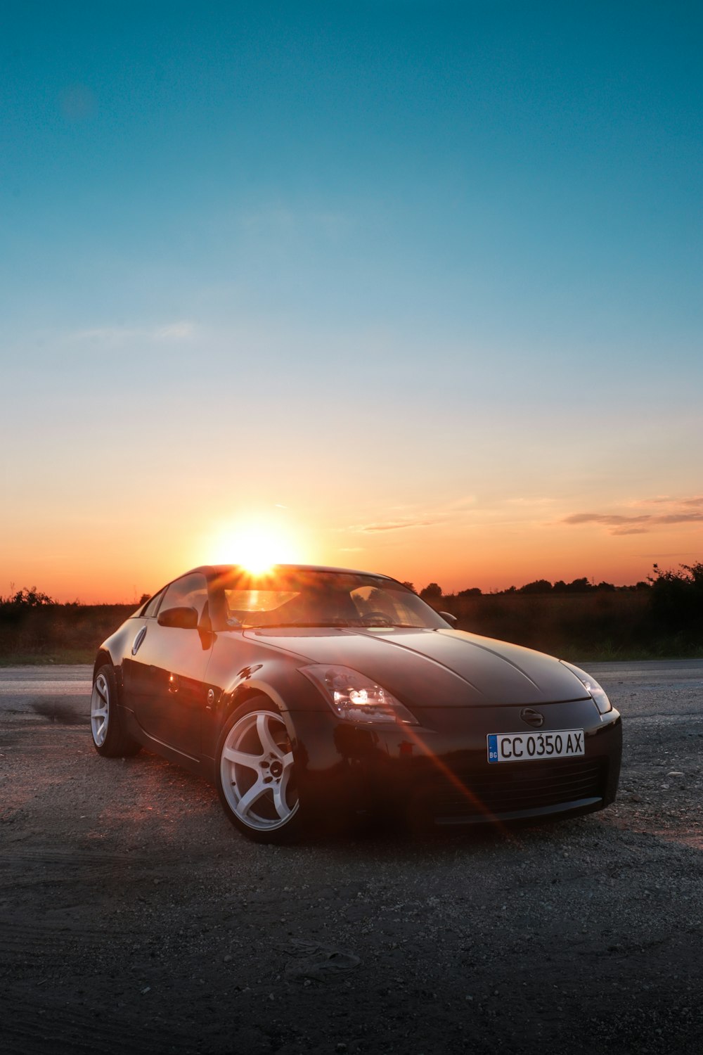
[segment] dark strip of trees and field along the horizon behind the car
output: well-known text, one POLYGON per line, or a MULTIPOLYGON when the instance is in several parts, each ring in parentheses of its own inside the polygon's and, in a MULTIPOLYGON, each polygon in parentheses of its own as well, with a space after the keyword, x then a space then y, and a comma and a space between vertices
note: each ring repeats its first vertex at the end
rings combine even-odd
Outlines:
MULTIPOLYGON (((405 586, 413 589, 411 582, 405 586)), ((455 615, 461 630, 564 658, 703 654, 703 562, 676 571, 655 564, 645 582, 631 587, 584 577, 554 583, 535 579, 487 594, 477 587, 445 594, 438 582, 430 582, 419 595, 437 611, 455 615)), ((37 587, 12 587, 0 596, 0 657, 91 663, 99 642, 136 607, 134 601, 60 605, 37 587)))

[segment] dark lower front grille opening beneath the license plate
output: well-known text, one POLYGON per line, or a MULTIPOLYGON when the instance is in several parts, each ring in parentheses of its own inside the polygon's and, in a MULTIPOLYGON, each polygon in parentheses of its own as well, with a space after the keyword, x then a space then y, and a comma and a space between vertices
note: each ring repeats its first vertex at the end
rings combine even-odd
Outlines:
POLYGON ((424 805, 436 818, 486 818, 536 810, 583 799, 600 799, 605 788, 602 759, 550 763, 496 763, 488 771, 446 778, 423 789, 424 805))

